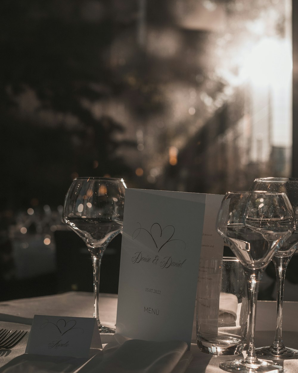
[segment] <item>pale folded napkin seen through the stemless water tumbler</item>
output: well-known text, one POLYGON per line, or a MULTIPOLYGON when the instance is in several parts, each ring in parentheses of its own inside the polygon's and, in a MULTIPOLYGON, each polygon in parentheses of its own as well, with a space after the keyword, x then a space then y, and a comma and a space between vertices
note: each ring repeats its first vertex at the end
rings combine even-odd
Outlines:
POLYGON ((221 326, 232 326, 237 319, 238 298, 234 294, 223 293, 219 295, 218 322, 221 326))

